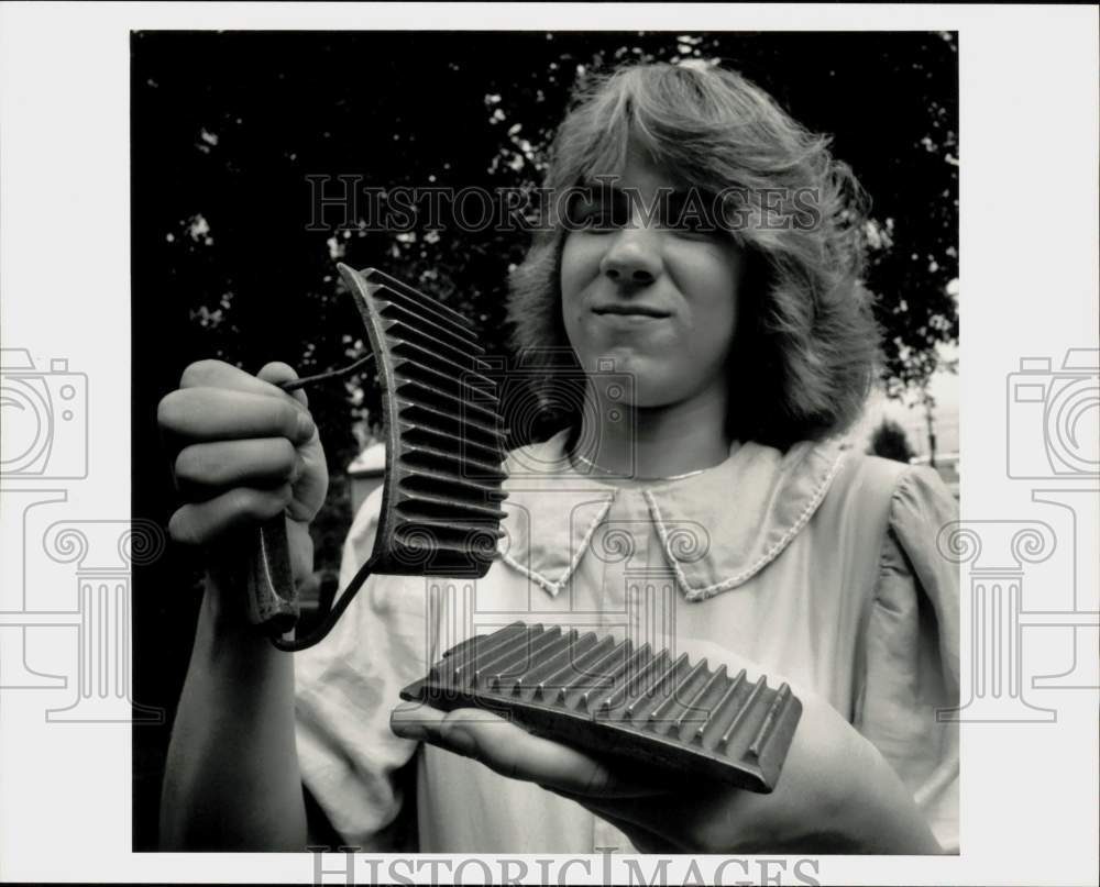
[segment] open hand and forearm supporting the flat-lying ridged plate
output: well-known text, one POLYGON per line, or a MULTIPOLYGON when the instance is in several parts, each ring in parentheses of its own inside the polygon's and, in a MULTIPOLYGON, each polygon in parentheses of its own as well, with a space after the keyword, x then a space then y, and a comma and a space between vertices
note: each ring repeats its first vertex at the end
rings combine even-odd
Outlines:
POLYGON ((941 852, 878 751, 823 699, 799 697, 802 718, 770 795, 602 761, 480 709, 406 705, 391 725, 576 801, 644 853, 941 852))

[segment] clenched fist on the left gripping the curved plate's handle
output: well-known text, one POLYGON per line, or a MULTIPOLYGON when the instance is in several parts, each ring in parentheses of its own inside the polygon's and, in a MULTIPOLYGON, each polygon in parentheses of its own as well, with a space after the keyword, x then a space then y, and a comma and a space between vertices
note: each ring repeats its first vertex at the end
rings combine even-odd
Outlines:
POLYGON ((295 580, 312 570, 309 522, 324 502, 328 468, 305 393, 277 387, 295 378, 280 363, 252 376, 221 361, 199 361, 157 408, 185 500, 168 533, 205 548, 213 572, 243 568, 244 531, 283 513, 295 580))

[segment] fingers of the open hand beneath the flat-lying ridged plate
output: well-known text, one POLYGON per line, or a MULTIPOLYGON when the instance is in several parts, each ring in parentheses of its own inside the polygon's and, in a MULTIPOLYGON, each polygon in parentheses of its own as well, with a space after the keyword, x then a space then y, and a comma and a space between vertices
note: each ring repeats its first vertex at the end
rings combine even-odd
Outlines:
POLYGON ((524 779, 574 795, 648 797, 663 794, 645 776, 631 778, 620 768, 541 739, 482 709, 455 709, 446 714, 427 706, 404 707, 391 716, 397 735, 439 745, 475 757, 512 779, 524 779))

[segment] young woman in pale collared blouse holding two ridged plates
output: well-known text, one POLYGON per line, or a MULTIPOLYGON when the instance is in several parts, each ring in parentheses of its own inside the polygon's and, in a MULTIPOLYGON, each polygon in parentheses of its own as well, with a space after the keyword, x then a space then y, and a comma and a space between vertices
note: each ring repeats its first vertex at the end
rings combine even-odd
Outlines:
MULTIPOLYGON (((194 491, 170 531, 211 565, 166 843, 301 849, 305 785, 318 820, 371 850, 399 840, 414 794, 424 852, 956 850, 957 727, 937 712, 958 703, 958 591, 935 544, 954 500, 838 436, 876 351, 858 186, 744 78, 668 65, 579 96, 547 185, 569 199, 510 313, 521 347, 571 350, 584 398, 509 455, 484 579, 375 576, 319 646, 274 651, 244 620, 234 541, 285 511, 308 569, 327 479, 305 398, 272 385, 294 373, 204 362, 162 402, 194 491), (516 618, 789 680, 803 716, 777 790, 670 783, 484 712, 398 706, 444 650, 516 618)), ((561 378, 544 385, 552 399, 561 378)))

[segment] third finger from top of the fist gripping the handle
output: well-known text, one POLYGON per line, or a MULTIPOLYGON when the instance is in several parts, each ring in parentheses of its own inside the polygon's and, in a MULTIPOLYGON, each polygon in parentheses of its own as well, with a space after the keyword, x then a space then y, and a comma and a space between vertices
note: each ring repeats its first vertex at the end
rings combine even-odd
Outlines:
POLYGON ((305 466, 305 459, 286 437, 261 437, 185 446, 176 456, 175 472, 180 492, 202 500, 228 487, 293 484, 305 466))

